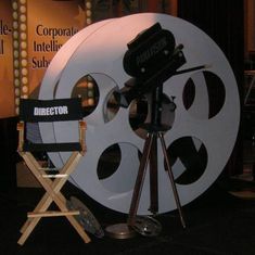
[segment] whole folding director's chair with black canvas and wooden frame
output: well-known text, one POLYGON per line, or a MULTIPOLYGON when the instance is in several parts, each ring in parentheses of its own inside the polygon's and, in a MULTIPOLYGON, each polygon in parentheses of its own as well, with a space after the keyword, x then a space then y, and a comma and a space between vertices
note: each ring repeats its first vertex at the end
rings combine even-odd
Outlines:
MULTIPOLYGON (((66 123, 66 125, 68 125, 68 123, 66 123)), ((58 216, 65 216, 71 225, 78 232, 78 234, 81 237, 81 239, 86 243, 90 242, 90 238, 87 235, 84 228, 74 217, 79 215, 79 211, 68 209, 66 207, 66 199, 61 193, 62 187, 67 181, 69 175, 75 170, 80 158, 86 153, 86 123, 82 120, 82 109, 80 99, 21 99, 20 122, 17 124, 17 152, 23 157, 28 169, 46 190, 44 195, 34 209, 34 212, 27 214, 27 220, 21 228, 22 235, 18 239, 17 243, 20 245, 23 245, 25 243, 25 241, 42 217, 58 216), (36 124, 40 122, 72 122, 74 124, 78 123, 77 141, 61 143, 38 143, 27 140, 27 124, 36 124), (41 165, 35 156, 35 153, 42 152, 71 152, 71 155, 65 162, 64 166, 58 171, 54 171, 56 174, 52 175, 52 169, 41 165), (48 211, 52 202, 56 204, 59 211, 48 211)))

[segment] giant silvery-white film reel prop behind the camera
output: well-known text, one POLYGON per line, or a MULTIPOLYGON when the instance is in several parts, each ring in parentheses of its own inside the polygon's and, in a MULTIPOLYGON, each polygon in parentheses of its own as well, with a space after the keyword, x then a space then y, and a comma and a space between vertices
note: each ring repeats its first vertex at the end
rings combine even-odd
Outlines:
MULTIPOLYGON (((211 66, 174 76, 164 84, 165 97, 175 97, 177 105, 174 116, 167 110, 164 114, 173 125, 165 133, 165 140, 177 190, 182 205, 193 201, 224 169, 237 139, 240 119, 238 87, 231 67, 217 44, 201 29, 181 18, 153 13, 93 24, 56 53, 40 88, 40 99, 69 98, 82 77, 90 75, 95 80, 100 98, 95 110, 86 117, 88 152, 71 181, 102 205, 122 213, 129 211, 139 167, 138 152, 142 151, 144 140, 130 125, 132 104, 129 109, 118 109, 114 116, 110 116, 106 105, 113 91, 124 87, 130 78, 123 68, 127 43, 156 22, 174 34, 177 43, 183 44, 187 63, 181 68, 211 66), (59 60, 65 54, 60 64, 59 60), (120 152, 118 167, 111 176, 100 179, 100 158, 114 144, 120 152)), ((40 126, 43 141, 72 140, 77 136, 72 130, 71 125, 40 126)), ((66 158, 66 153, 51 155, 55 165, 66 158)), ((158 182, 158 213, 175 209, 161 151, 158 182)), ((149 206, 146 176, 138 214, 149 214, 149 206)))

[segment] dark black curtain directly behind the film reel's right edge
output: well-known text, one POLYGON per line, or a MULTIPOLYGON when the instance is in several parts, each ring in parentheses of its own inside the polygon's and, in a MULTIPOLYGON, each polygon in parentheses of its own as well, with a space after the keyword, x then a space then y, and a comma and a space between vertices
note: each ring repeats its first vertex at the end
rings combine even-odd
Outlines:
MULTIPOLYGON (((179 0, 178 16, 204 30, 225 52, 235 75, 241 112, 244 74, 244 3, 242 0, 179 0)), ((241 119, 243 117, 241 116, 241 119)), ((242 173, 242 122, 225 173, 242 173)))

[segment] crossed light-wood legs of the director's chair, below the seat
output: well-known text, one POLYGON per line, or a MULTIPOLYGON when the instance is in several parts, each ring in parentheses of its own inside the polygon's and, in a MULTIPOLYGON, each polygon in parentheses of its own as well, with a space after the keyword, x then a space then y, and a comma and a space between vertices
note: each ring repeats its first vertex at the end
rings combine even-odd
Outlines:
POLYGON ((69 211, 66 207, 66 199, 61 193, 62 187, 67 181, 68 176, 76 168, 82 154, 80 154, 79 152, 73 152, 69 158, 67 160, 66 164, 61 169, 60 178, 58 178, 56 176, 54 180, 51 180, 50 178, 47 178, 46 175, 41 174, 43 168, 36 161, 36 158, 33 156, 31 153, 20 152, 20 154, 24 158, 29 170, 44 188, 46 194, 42 196, 42 199, 34 209, 34 212, 27 214, 28 218, 21 228, 22 235, 18 239, 17 243, 20 245, 23 245, 25 243, 25 241, 27 240, 27 238, 29 237, 29 234, 31 233, 31 231, 35 229, 35 227, 42 217, 58 217, 58 216, 65 216, 71 222, 71 225, 78 232, 78 234, 81 237, 81 239, 86 243, 89 243, 90 238, 87 235, 84 228, 78 224, 78 221, 74 217, 75 215, 79 214, 79 211, 69 211), (52 202, 54 202, 58 205, 60 211, 58 212, 47 211, 52 202))

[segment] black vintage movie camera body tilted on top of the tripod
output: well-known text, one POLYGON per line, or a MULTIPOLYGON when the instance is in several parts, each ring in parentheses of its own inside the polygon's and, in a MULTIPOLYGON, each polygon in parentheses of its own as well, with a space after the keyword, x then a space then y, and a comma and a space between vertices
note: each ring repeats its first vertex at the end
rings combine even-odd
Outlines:
POLYGON ((133 99, 162 86, 186 63, 183 46, 176 47, 174 35, 162 29, 160 23, 141 31, 127 47, 123 66, 132 78, 125 82, 122 90, 115 92, 123 107, 127 107, 133 99))

